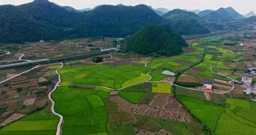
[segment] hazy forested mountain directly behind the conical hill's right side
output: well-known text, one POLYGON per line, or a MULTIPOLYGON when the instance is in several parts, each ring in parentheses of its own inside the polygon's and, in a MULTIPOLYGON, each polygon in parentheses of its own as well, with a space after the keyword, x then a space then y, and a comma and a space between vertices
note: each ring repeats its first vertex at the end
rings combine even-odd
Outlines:
POLYGON ((194 12, 174 9, 163 16, 171 22, 171 26, 181 35, 207 34, 208 28, 204 27, 203 20, 194 12))

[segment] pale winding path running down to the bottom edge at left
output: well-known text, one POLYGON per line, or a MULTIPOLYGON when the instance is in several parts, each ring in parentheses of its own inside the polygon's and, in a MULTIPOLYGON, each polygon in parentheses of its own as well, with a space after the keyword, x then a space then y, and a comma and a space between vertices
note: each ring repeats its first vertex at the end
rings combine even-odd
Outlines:
POLYGON ((54 86, 54 89, 53 89, 53 90, 49 93, 49 95, 48 95, 48 98, 49 98, 49 99, 51 100, 51 102, 52 102, 52 107, 51 107, 52 113, 53 113, 54 115, 57 115, 57 116, 60 117, 60 121, 59 121, 58 126, 57 126, 56 135, 61 135, 61 126, 62 126, 62 123, 63 123, 64 118, 63 118, 62 115, 56 113, 56 111, 54 110, 55 102, 54 102, 54 100, 52 99, 52 93, 57 89, 58 86, 60 86, 59 84, 61 83, 61 75, 59 74, 58 71, 59 71, 63 66, 64 66, 64 64, 61 63, 61 67, 55 71, 56 74, 59 76, 59 81, 56 83, 56 85, 54 86))

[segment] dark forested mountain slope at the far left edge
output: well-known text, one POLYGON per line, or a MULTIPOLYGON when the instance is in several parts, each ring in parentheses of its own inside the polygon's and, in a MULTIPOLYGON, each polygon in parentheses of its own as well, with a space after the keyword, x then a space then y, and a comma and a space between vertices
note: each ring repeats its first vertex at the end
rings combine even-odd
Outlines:
POLYGON ((55 40, 64 36, 64 31, 52 25, 44 25, 13 5, 0 6, 0 42, 55 40))

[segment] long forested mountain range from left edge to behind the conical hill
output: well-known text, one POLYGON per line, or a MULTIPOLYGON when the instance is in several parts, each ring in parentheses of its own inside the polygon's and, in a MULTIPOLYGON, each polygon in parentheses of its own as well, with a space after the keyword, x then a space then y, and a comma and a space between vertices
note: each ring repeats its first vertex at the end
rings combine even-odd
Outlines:
POLYGON ((0 7, 0 23, 3 24, 0 39, 5 43, 128 36, 146 25, 161 24, 164 20, 146 5, 102 5, 88 12, 73 12, 48 0, 35 0, 20 6, 0 7))

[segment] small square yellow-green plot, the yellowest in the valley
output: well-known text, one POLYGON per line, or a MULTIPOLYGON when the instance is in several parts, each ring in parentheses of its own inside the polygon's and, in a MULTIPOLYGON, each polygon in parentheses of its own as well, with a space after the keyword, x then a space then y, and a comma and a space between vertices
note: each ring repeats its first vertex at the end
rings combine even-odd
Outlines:
POLYGON ((154 93, 172 93, 172 86, 168 82, 152 83, 152 92, 154 93))

